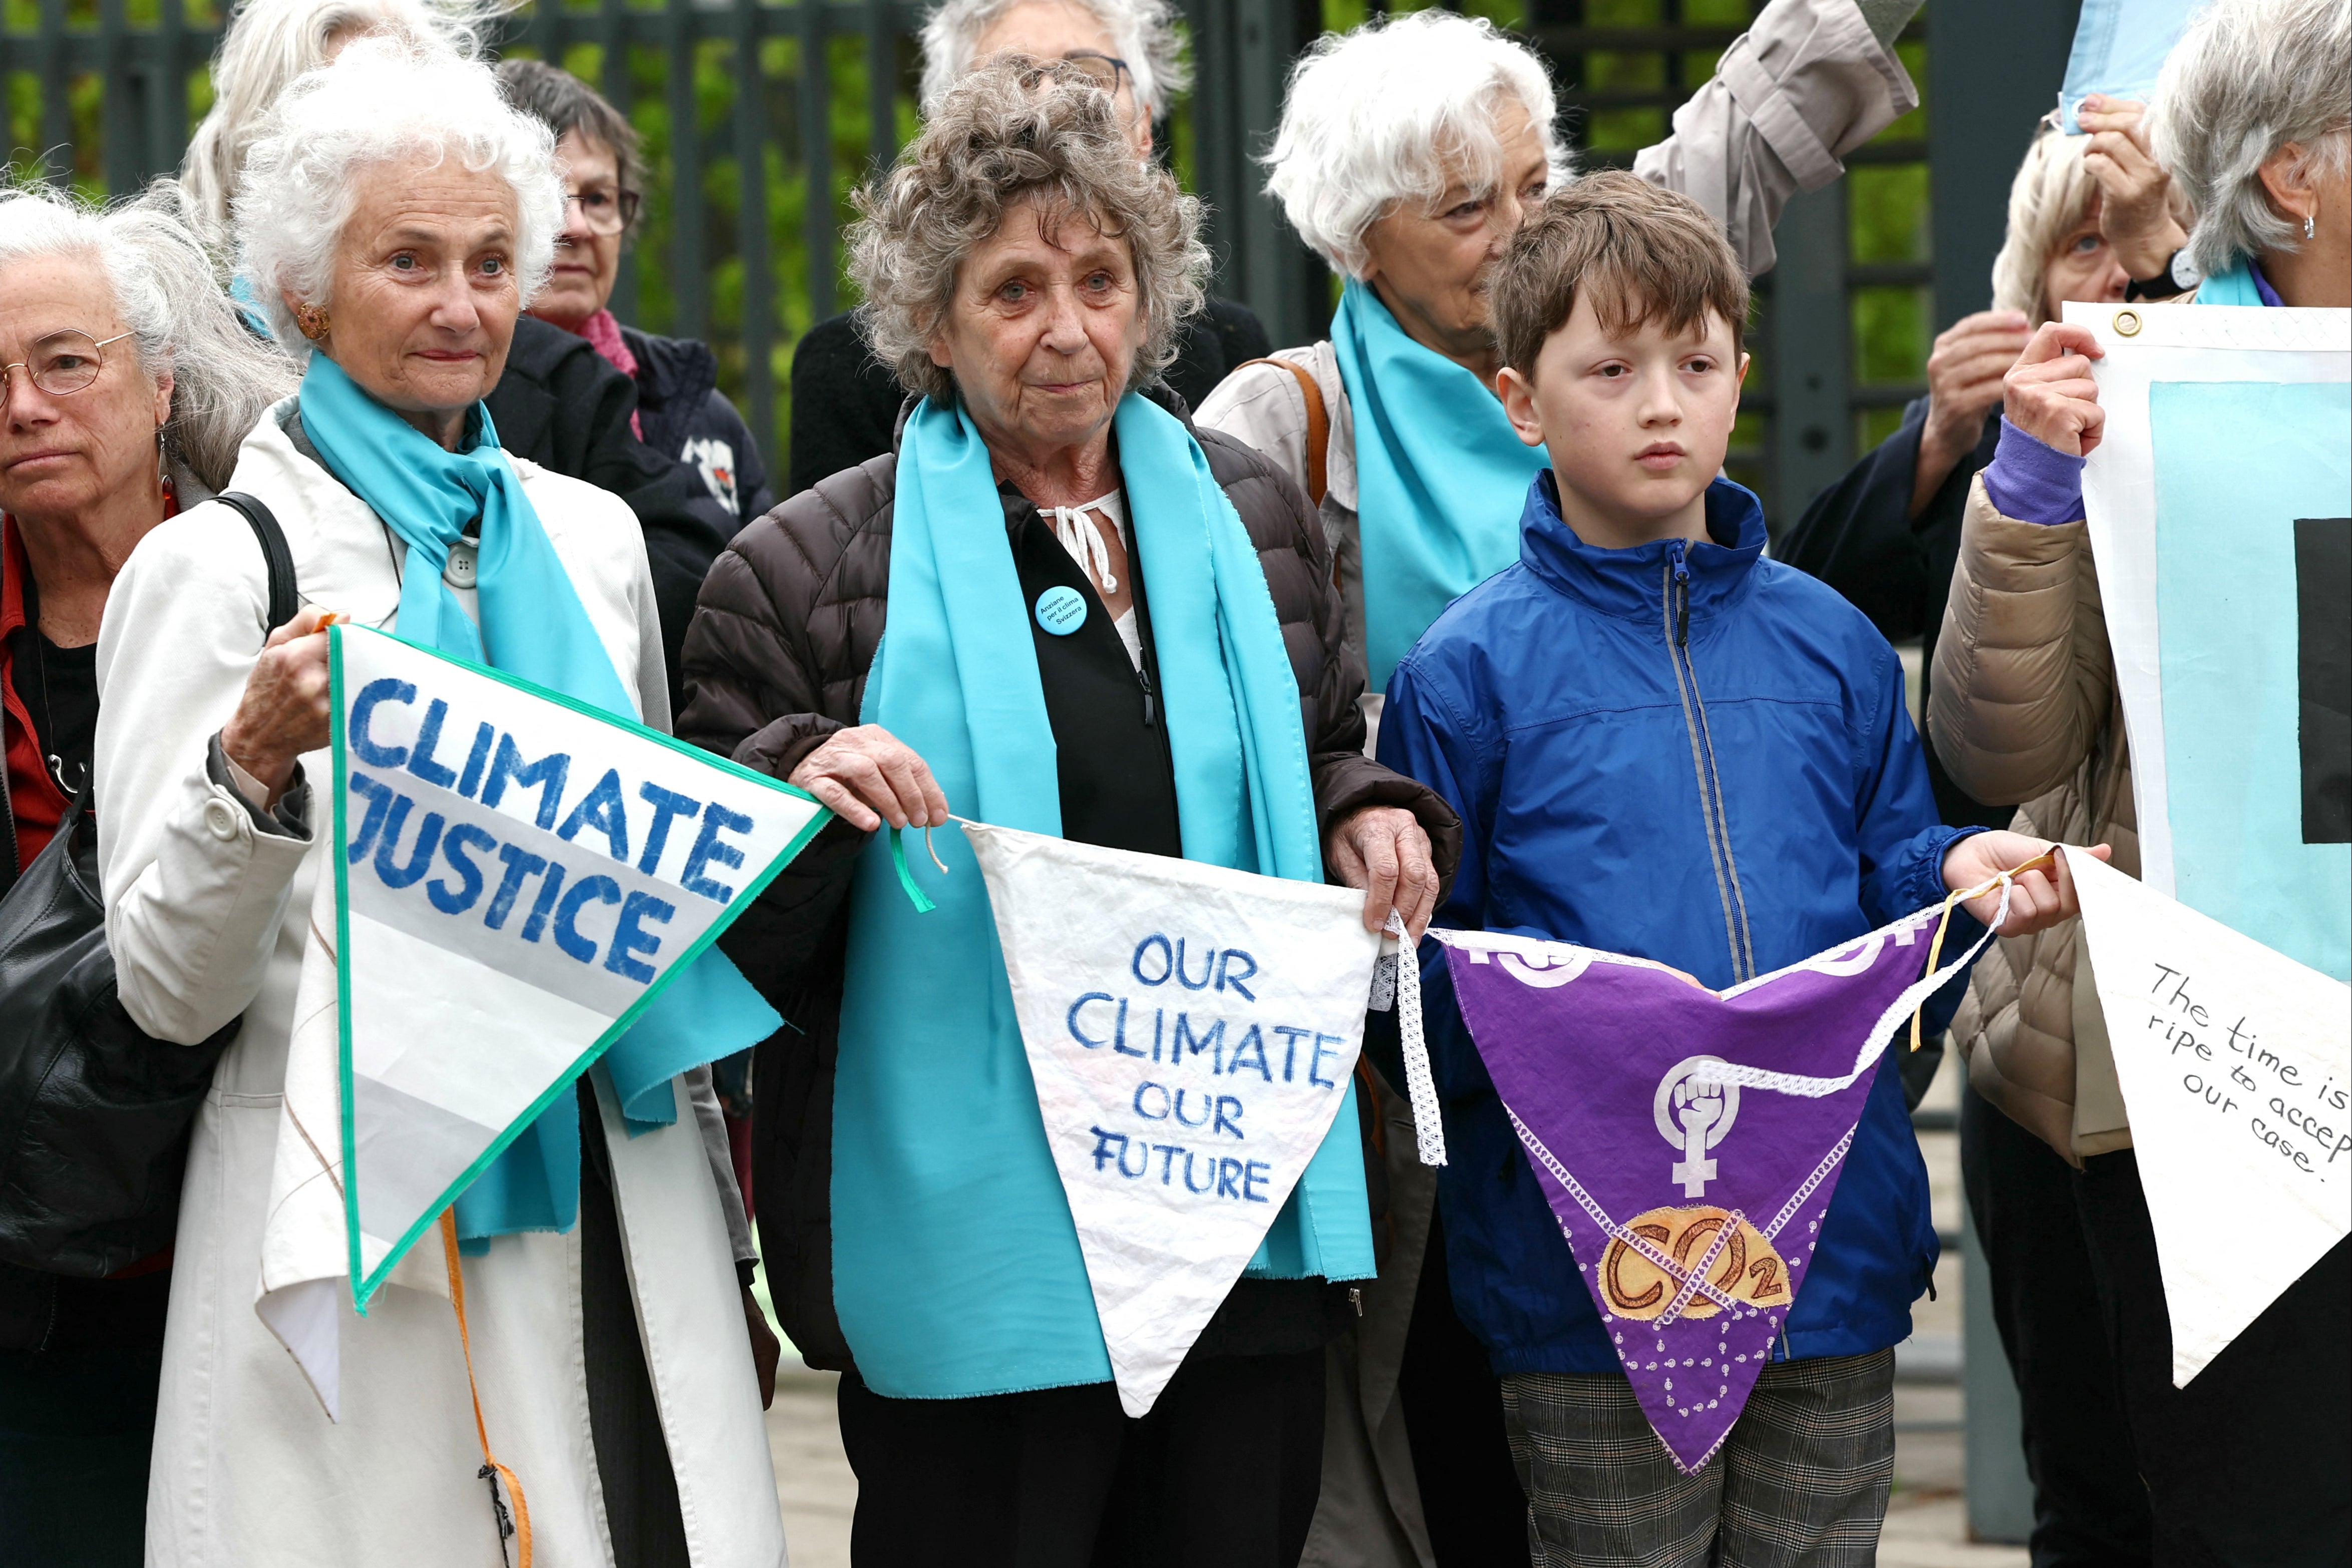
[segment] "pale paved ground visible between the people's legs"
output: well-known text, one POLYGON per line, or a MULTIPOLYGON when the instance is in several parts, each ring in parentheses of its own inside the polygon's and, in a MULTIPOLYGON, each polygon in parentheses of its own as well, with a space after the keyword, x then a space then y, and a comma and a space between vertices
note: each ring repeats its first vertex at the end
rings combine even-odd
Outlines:
MULTIPOLYGON (((1945 1063, 1926 1105, 1957 1105, 1955 1063, 1945 1063)), ((1922 1133, 1936 1227, 1962 1222, 1959 1138, 1922 1133)), ((1959 1255, 1936 1269, 1936 1300, 1912 1309, 1912 1345, 1903 1356, 1912 1368, 1940 1373, 1940 1382, 1896 1387, 1896 1495, 1879 1537, 1882 1568, 2025 1568, 2023 1547, 1985 1547, 1969 1540, 1962 1399, 1950 1382, 1959 1359, 1959 1255)), ((797 1356, 786 1354, 790 1366, 797 1356)), ((833 1375, 800 1368, 776 1387, 767 1415, 767 1441, 776 1458, 776 1495, 793 1568, 849 1568, 849 1514, 858 1483, 842 1458, 842 1434, 833 1413, 833 1375)))

